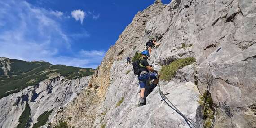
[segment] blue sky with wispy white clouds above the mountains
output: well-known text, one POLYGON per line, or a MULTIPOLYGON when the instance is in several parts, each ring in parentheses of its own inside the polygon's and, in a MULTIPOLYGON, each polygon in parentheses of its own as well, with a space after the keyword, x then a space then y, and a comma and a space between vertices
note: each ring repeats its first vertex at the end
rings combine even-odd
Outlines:
POLYGON ((96 68, 134 15, 153 3, 0 0, 0 57, 96 68))

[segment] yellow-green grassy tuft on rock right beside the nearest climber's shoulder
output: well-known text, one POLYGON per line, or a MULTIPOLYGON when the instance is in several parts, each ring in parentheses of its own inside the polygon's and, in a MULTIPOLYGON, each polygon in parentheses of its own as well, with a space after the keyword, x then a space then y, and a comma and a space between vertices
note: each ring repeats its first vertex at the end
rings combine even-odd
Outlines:
POLYGON ((173 61, 171 64, 162 66, 162 69, 160 71, 161 79, 164 80, 171 80, 178 69, 181 69, 187 65, 190 65, 194 63, 196 60, 195 58, 184 58, 184 59, 178 59, 173 61))

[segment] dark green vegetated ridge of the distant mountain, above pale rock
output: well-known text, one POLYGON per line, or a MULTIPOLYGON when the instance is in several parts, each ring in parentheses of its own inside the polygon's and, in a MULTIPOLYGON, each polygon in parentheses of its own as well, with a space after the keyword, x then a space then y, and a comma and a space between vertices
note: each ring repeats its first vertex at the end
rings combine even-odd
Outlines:
POLYGON ((50 74, 60 74, 67 79, 76 79, 93 75, 93 69, 78 68, 65 65, 51 65, 48 62, 25 62, 11 59, 10 78, 0 76, 0 99, 12 93, 38 84, 48 79, 50 74))

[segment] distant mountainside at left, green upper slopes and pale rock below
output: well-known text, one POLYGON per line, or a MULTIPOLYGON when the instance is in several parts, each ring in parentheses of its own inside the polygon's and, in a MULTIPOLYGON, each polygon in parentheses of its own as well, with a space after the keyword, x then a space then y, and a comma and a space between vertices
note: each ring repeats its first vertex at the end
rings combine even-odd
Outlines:
POLYGON ((93 74, 93 69, 8 58, 0 58, 0 69, 0 128, 49 123, 87 87, 91 76, 86 75, 93 74))

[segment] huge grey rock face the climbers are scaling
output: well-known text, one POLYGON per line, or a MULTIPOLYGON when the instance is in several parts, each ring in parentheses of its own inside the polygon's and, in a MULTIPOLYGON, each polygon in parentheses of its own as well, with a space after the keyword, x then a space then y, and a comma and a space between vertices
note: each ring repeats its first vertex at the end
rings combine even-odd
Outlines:
POLYGON ((172 0, 168 5, 157 0, 137 13, 108 50, 90 80, 89 90, 94 93, 88 97, 83 92, 53 122, 72 116, 75 121, 67 121, 76 128, 188 128, 181 116, 160 101, 157 88, 147 105, 136 106, 140 88, 136 76, 128 72, 132 66, 123 60, 145 49, 146 41, 155 36, 161 43, 149 60, 155 69, 180 58, 196 58, 196 63, 177 71, 175 79, 160 83, 186 117, 203 127, 206 120, 197 101, 208 90, 215 128, 254 128, 255 23, 253 0, 172 0), (87 100, 92 105, 81 104, 87 100))

